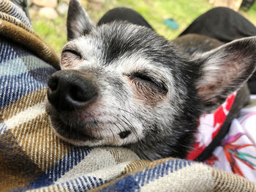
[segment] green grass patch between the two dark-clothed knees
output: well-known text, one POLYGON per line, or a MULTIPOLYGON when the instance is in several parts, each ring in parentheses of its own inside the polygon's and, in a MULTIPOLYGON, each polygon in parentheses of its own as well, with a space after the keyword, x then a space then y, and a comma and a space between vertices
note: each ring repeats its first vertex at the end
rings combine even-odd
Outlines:
POLYGON ((195 18, 211 8, 205 0, 161 0, 161 1, 135 1, 120 0, 118 6, 125 6, 140 12, 148 23, 162 36, 167 39, 174 39, 181 33, 195 18), (163 20, 173 18, 179 25, 176 31, 167 28, 163 20))

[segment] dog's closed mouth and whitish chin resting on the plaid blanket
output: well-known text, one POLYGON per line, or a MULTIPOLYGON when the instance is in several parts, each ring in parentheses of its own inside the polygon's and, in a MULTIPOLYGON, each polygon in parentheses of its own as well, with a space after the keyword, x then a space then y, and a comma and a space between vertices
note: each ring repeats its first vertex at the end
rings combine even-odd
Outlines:
POLYGON ((115 119, 108 119, 105 116, 102 118, 102 115, 87 114, 82 117, 74 112, 59 112, 49 103, 46 104, 46 112, 56 136, 72 145, 116 146, 127 144, 130 137, 138 139, 137 132, 132 132, 129 126, 124 127, 123 121, 120 121, 119 125, 115 119), (135 133, 135 136, 132 136, 132 133, 135 133))

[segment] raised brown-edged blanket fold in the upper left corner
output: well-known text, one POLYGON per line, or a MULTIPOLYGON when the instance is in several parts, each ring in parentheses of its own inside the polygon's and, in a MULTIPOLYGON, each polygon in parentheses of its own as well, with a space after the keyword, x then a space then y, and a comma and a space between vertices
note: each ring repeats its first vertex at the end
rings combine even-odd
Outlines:
POLYGON ((60 69, 56 53, 34 33, 25 13, 11 1, 0 0, 0 35, 19 43, 46 63, 60 69))

